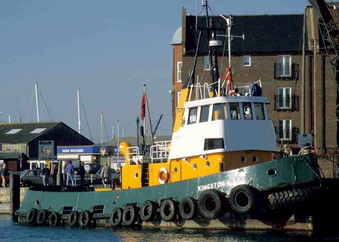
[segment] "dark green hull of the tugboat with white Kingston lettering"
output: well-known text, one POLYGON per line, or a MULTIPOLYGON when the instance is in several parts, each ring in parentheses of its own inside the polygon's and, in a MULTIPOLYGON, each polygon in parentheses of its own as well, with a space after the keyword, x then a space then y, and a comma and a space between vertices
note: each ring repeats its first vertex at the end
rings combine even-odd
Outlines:
MULTIPOLYGON (((67 219, 70 210, 92 213, 97 224, 109 224, 109 216, 116 207, 125 209, 129 204, 140 208, 146 200, 160 205, 164 199, 170 198, 176 204, 184 197, 199 199, 206 190, 218 190, 226 199, 222 203, 223 212, 218 219, 208 220, 198 215, 185 221, 175 216, 174 221, 167 223, 157 216, 152 222, 137 222, 142 226, 184 226, 184 227, 224 227, 224 228, 285 228, 312 229, 314 204, 287 206, 272 209, 268 196, 271 193, 289 189, 320 186, 319 167, 313 155, 301 155, 280 158, 271 162, 247 166, 244 168, 220 172, 185 181, 176 181, 150 187, 109 191, 58 191, 61 187, 32 187, 27 190, 21 207, 16 214, 19 221, 25 222, 26 214, 35 208, 49 213, 58 212, 67 219), (247 184, 256 191, 256 208, 248 214, 240 215, 233 212, 229 205, 232 188, 247 184), (46 191, 49 189, 49 191, 46 191), (298 208, 298 210, 296 209, 298 208), (67 211, 66 211, 67 210, 67 211), (295 211, 298 211, 297 214, 295 211), (282 220, 282 221, 280 221, 282 220)), ((76 189, 76 188, 74 188, 76 189)), ((331 188, 333 190, 333 188, 331 188)), ((319 206, 319 205, 317 205, 319 206)), ((319 208, 319 207, 318 207, 319 208)), ((319 209, 318 209, 319 210, 319 209)))

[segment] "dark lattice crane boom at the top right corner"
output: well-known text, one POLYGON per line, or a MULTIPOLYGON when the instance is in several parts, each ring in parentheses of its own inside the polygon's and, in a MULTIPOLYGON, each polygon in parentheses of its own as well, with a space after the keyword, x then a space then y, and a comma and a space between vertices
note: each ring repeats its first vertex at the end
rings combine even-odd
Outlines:
POLYGON ((339 30, 324 0, 308 0, 318 20, 319 31, 331 63, 339 92, 339 30))

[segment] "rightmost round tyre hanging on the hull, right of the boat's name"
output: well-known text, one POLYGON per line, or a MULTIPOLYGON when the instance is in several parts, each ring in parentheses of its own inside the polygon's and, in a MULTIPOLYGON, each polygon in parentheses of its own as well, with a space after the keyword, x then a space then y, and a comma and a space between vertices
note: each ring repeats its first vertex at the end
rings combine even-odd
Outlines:
POLYGON ((246 184, 233 187, 229 196, 231 208, 238 214, 251 212, 255 201, 256 196, 253 188, 246 184))

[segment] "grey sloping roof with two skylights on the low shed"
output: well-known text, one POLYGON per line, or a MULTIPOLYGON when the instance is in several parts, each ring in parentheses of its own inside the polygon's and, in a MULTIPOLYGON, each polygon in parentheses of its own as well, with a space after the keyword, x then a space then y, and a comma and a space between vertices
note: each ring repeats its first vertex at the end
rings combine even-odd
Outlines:
POLYGON ((20 123, 0 123, 0 143, 28 143, 38 136, 46 133, 48 130, 62 122, 20 122, 20 123), (21 129, 15 134, 6 134, 14 129, 21 129), (36 129, 44 129, 39 133, 31 133, 36 129))

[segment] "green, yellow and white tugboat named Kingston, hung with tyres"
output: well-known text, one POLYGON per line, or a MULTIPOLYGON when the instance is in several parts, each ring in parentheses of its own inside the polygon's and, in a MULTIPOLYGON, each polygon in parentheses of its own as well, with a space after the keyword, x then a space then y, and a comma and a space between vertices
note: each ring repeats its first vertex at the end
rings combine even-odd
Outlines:
MULTIPOLYGON (((210 37, 211 84, 194 85, 193 68, 181 91, 172 139, 155 143, 149 154, 122 142, 119 187, 29 188, 15 212, 19 223, 290 230, 330 223, 333 211, 326 204, 338 200, 338 181, 321 177, 314 153, 278 152, 267 115, 270 102, 260 85, 253 84, 250 94, 238 93, 231 66, 218 78, 220 41, 207 0, 204 7, 207 26, 200 31, 210 37)), ((197 53, 198 48, 199 43, 197 53)))

